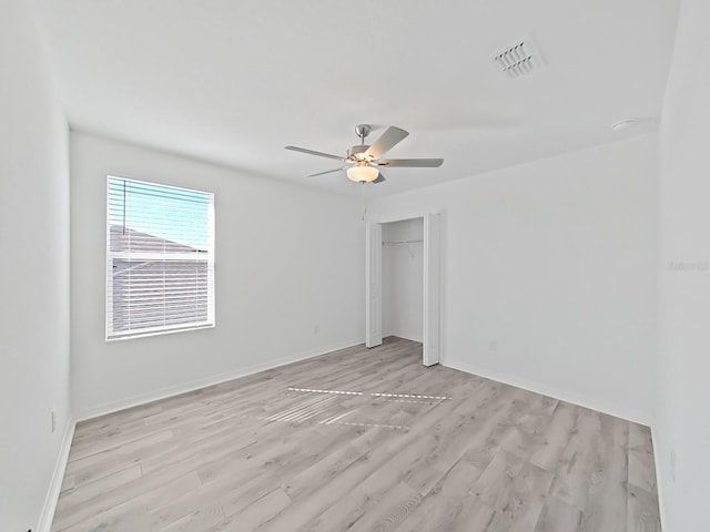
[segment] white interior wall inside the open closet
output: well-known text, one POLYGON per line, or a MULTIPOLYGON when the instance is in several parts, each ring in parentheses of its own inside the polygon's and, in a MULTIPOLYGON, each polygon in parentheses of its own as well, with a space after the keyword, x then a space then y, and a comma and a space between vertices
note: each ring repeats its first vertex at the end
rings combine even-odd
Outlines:
POLYGON ((424 332, 424 218, 383 224, 383 335, 422 341, 424 332))

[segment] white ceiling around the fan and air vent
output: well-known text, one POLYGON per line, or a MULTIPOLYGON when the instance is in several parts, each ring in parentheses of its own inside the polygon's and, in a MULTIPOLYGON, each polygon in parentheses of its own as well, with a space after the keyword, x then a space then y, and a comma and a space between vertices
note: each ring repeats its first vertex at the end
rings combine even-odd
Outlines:
MULTIPOLYGON (((75 130, 343 194, 358 123, 410 136, 392 194, 656 129, 679 0, 36 0, 75 130), (532 35, 547 66, 493 55, 532 35), (642 119, 612 133, 626 116, 642 119)), ((383 130, 374 131, 369 140, 383 130)))

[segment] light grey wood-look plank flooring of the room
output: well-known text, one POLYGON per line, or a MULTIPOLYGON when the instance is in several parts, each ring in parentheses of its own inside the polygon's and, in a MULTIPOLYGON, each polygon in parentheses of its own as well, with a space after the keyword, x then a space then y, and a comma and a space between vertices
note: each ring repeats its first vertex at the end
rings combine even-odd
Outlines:
POLYGON ((79 423, 52 530, 659 531, 650 432, 389 338, 79 423))

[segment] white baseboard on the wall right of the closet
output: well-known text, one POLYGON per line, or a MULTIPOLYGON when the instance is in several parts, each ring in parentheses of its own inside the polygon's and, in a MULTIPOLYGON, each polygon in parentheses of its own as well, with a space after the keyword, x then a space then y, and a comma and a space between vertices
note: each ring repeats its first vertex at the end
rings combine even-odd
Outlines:
POLYGON ((604 401, 594 399, 590 400, 588 397, 577 396, 574 392, 569 392, 567 390, 554 389, 552 387, 542 385, 540 382, 531 382, 515 376, 511 377, 509 375, 499 374, 497 371, 489 371, 484 368, 474 367, 473 365, 469 365, 467 362, 450 362, 448 359, 442 361, 442 366, 446 366, 447 368, 452 369, 458 369, 459 371, 477 375, 479 377, 485 377, 486 379, 496 380, 498 382, 503 382, 504 385, 515 386, 516 388, 521 388, 535 393, 540 393, 554 399, 570 402, 572 405, 578 405, 591 410, 597 410, 598 412, 607 413, 609 416, 613 416, 615 418, 626 419, 629 421, 633 421, 635 423, 645 426, 651 424, 651 420, 648 418, 648 416, 645 416, 641 412, 619 408, 616 405, 605 405, 604 401))

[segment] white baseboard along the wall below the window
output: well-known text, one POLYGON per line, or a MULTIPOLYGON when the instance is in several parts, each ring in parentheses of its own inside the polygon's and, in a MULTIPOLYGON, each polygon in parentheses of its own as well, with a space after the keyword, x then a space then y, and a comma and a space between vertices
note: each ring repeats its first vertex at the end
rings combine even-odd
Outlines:
POLYGON ((162 388, 160 390, 151 391, 148 393, 141 393, 138 396, 128 397, 125 399, 120 399, 118 401, 104 402, 101 405, 78 410, 77 412, 74 412, 74 418, 77 422, 85 421, 88 419, 98 418, 101 416, 105 416, 108 413, 118 412, 119 410, 125 410, 126 408, 139 407, 141 405, 145 405, 146 402, 166 399, 169 397, 179 396, 181 393, 199 390, 201 388, 206 388, 209 386, 214 386, 221 382, 239 379, 240 377, 246 377, 248 375, 257 374, 266 369, 276 368, 278 366, 285 366, 287 364, 297 362, 300 360, 306 360, 313 357, 320 357, 322 355, 327 355, 328 352, 337 351, 341 349, 347 349, 348 347, 357 346, 359 344, 363 344, 362 339, 347 342, 346 345, 320 348, 317 351, 306 351, 306 352, 290 355, 287 357, 268 360, 264 364, 257 364, 254 366, 248 366, 246 368, 240 368, 234 371, 227 371, 225 374, 214 375, 211 377, 196 379, 190 382, 182 382, 176 386, 170 386, 170 387, 162 388))

